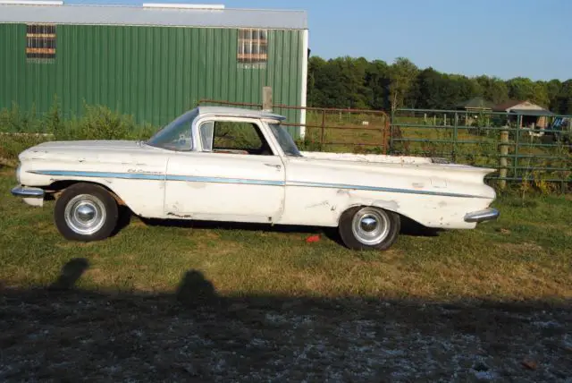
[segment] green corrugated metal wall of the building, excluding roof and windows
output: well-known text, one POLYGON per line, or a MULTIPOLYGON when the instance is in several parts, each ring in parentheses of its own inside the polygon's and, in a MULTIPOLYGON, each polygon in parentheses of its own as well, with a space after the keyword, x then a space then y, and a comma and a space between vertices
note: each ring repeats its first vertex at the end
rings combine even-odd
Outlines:
MULTIPOLYGON (((0 107, 46 113, 57 95, 68 118, 85 102, 163 125, 201 98, 261 103, 263 86, 275 104, 301 102, 301 30, 269 30, 265 68, 238 64, 232 29, 58 25, 56 34, 55 62, 28 63, 26 26, 0 24, 0 107)), ((298 111, 277 112, 299 122, 298 111)))

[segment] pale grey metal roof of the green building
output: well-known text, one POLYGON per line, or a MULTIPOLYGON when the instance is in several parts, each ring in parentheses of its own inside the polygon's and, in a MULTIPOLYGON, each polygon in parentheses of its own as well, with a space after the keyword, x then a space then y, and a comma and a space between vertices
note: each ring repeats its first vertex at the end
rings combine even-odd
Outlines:
POLYGON ((0 22, 306 30, 307 13, 290 10, 0 4, 0 22))

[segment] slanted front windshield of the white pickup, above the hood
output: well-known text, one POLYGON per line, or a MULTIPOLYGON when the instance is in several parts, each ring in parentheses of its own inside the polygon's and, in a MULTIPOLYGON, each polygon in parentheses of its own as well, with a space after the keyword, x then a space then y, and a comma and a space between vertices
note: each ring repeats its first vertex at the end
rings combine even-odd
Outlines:
POLYGON ((180 115, 159 132, 147 140, 147 145, 170 150, 190 150, 193 147, 191 125, 198 115, 193 109, 180 115))

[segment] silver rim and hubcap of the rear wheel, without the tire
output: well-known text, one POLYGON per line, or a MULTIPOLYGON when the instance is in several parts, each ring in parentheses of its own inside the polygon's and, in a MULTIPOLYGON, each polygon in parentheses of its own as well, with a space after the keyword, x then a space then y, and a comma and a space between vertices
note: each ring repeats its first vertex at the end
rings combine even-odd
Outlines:
POLYGON ((390 234, 390 218, 381 209, 360 209, 353 217, 351 231, 360 243, 376 245, 390 234))

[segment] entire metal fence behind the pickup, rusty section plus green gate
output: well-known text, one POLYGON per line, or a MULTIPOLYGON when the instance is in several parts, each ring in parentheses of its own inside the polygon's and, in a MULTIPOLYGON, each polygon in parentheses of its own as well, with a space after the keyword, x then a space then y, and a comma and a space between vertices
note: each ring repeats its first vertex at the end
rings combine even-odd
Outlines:
MULTIPOLYGON (((205 99, 199 105, 249 106, 205 99)), ((572 127, 569 115, 493 111, 396 109, 382 111, 273 105, 273 112, 306 111, 306 123, 284 123, 305 132, 307 149, 441 157, 497 169, 487 180, 536 183, 543 188, 572 185, 572 127), (565 122, 557 124, 557 122, 565 122), (375 134, 374 134, 375 133, 375 134)))

